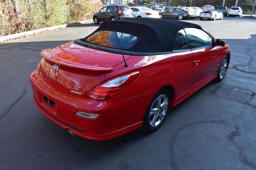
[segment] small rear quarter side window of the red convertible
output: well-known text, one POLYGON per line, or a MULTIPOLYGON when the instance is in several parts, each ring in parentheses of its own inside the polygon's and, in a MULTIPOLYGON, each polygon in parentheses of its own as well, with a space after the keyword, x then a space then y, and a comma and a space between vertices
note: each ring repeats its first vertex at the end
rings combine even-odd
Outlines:
POLYGON ((183 29, 177 33, 174 46, 173 46, 173 50, 181 50, 181 49, 189 49, 188 39, 183 29))

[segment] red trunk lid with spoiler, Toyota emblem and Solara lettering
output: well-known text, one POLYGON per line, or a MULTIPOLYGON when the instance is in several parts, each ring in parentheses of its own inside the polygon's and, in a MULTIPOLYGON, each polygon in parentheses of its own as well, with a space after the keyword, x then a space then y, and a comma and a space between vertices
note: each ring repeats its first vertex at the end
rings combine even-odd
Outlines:
MULTIPOLYGON (((124 62, 120 54, 83 47, 73 42, 54 49, 44 49, 41 55, 43 59, 39 71, 44 81, 58 90, 75 95, 88 93, 105 81, 104 73, 111 72, 114 66, 124 62)), ((124 57, 128 59, 130 56, 124 57)))

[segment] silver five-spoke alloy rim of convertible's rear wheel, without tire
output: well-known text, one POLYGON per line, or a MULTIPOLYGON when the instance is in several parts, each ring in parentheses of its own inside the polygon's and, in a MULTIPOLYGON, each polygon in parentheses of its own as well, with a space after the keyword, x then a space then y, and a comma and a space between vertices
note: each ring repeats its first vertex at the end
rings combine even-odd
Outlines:
POLYGON ((169 100, 166 95, 160 95, 150 107, 149 123, 150 126, 156 127, 164 120, 168 111, 169 100))

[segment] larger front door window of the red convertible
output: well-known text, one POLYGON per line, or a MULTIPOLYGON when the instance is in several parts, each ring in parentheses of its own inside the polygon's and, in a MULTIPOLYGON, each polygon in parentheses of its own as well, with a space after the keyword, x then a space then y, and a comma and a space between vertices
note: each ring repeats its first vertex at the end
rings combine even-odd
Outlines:
POLYGON ((199 48, 213 45, 212 38, 206 32, 197 28, 185 28, 191 48, 199 48))

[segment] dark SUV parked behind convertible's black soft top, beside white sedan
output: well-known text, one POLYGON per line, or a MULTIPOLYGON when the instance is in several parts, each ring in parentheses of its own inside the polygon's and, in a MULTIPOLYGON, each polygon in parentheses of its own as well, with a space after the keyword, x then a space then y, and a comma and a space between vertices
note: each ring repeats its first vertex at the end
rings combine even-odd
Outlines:
POLYGON ((103 21, 115 21, 122 18, 133 18, 132 10, 127 5, 110 5, 104 6, 99 12, 94 14, 93 21, 95 24, 103 21))

